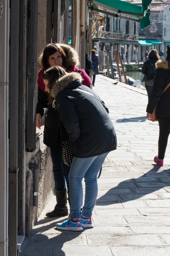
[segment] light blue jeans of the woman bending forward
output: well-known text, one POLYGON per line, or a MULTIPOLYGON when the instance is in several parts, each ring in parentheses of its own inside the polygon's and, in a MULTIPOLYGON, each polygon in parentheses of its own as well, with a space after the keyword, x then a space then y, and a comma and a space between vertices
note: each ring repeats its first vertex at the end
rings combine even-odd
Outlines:
POLYGON ((80 216, 91 217, 98 195, 97 175, 108 153, 89 158, 74 157, 70 173, 71 217, 79 220, 80 216), (85 203, 83 204, 82 179, 85 178, 85 203))

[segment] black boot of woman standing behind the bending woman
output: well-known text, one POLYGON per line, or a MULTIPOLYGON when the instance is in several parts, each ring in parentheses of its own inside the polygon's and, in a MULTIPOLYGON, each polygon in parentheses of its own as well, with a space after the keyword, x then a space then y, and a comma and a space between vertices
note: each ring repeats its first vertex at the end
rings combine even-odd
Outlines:
POLYGON ((47 212, 46 216, 50 218, 58 216, 67 216, 67 190, 55 190, 57 204, 52 212, 47 212))

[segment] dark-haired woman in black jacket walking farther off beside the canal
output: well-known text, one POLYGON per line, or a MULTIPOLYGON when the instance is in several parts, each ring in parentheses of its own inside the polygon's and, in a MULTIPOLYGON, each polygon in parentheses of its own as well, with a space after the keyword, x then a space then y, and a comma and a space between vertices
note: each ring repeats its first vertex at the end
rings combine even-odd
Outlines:
POLYGON ((153 82, 156 74, 156 62, 160 59, 157 50, 153 49, 149 52, 147 61, 144 62, 142 67, 142 73, 144 74, 144 78, 142 81, 145 83, 145 88, 147 90, 148 99, 152 93, 153 82))

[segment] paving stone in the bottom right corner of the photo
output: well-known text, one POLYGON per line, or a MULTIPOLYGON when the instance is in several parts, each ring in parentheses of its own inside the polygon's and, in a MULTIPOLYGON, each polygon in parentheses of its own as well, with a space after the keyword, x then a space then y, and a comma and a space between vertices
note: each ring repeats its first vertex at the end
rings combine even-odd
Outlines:
POLYGON ((170 247, 111 247, 114 256, 169 256, 170 247))

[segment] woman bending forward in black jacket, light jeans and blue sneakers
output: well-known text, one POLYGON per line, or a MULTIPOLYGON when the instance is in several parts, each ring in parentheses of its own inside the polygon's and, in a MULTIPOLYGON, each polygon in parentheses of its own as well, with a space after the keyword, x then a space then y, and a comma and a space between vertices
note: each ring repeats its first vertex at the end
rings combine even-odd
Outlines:
POLYGON ((81 84, 79 73, 66 73, 61 67, 50 67, 43 79, 51 102, 55 102, 60 120, 73 142, 74 158, 69 173, 71 215, 56 227, 80 231, 82 227, 93 227, 91 216, 98 194, 97 175, 108 152, 116 149, 116 133, 104 102, 93 90, 81 84), (85 202, 82 207, 83 178, 85 202))

